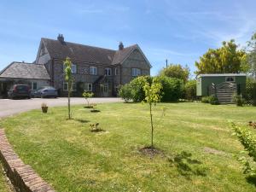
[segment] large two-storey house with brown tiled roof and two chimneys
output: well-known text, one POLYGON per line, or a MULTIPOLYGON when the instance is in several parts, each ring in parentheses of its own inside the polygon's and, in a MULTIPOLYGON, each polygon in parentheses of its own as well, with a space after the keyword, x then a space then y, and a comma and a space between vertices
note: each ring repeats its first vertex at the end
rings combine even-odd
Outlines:
MULTIPOLYGON (((120 85, 137 76, 150 75, 151 65, 137 44, 125 47, 119 43, 118 49, 113 50, 66 42, 61 34, 57 39, 41 38, 36 61, 30 65, 45 67, 49 85, 54 86, 61 96, 67 96, 63 65, 67 57, 73 63, 73 96, 81 96, 84 90, 94 92, 95 96, 117 96, 120 85)), ((22 78, 23 74, 15 77, 22 78)), ((29 82, 34 81, 30 79, 29 82)))

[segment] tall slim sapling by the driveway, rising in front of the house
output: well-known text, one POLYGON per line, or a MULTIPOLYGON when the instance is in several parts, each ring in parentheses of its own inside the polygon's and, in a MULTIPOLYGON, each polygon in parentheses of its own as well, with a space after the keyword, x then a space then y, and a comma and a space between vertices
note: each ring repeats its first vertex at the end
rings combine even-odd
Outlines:
POLYGON ((68 107, 68 119, 71 119, 71 112, 70 112, 70 96, 72 93, 72 84, 73 84, 73 77, 72 77, 72 62, 67 57, 66 61, 63 62, 65 65, 65 80, 67 81, 67 107, 68 107))

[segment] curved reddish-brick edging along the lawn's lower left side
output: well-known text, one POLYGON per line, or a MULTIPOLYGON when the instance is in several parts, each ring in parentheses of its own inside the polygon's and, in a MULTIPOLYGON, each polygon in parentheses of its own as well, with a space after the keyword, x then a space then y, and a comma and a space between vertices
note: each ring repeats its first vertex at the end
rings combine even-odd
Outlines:
POLYGON ((19 192, 55 192, 48 183, 32 170, 31 166, 25 165, 19 156, 15 154, 9 144, 4 130, 0 129, 0 160, 3 168, 19 192))

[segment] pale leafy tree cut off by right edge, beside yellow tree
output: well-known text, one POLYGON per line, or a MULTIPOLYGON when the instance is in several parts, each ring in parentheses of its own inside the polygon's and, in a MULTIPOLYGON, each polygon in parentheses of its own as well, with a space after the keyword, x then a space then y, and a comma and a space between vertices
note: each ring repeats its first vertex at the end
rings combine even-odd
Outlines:
POLYGON ((247 44, 248 72, 256 79, 256 32, 247 44))

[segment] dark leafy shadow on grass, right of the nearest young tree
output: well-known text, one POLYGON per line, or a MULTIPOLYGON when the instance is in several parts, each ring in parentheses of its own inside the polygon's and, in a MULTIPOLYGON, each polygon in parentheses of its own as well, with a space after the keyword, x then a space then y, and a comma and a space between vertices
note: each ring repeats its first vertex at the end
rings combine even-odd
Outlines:
POLYGON ((182 151, 173 159, 169 158, 168 160, 172 166, 177 167, 177 172, 187 179, 191 179, 193 176, 207 176, 207 170, 202 166, 201 161, 192 159, 192 154, 186 151, 182 151))

